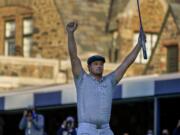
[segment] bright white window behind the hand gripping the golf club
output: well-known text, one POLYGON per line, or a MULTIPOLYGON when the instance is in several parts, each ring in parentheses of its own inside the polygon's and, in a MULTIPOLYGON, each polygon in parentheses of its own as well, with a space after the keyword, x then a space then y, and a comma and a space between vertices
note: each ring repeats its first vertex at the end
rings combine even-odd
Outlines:
MULTIPOLYGON (((139 33, 134 34, 133 46, 137 44, 138 36, 139 36, 139 33)), ((154 48, 156 41, 157 41, 157 34, 146 33, 146 50, 147 50, 148 58, 151 56, 152 49, 154 48)), ((141 50, 135 60, 135 63, 146 64, 147 62, 148 62, 148 59, 145 60, 143 58, 143 52, 141 50)))

